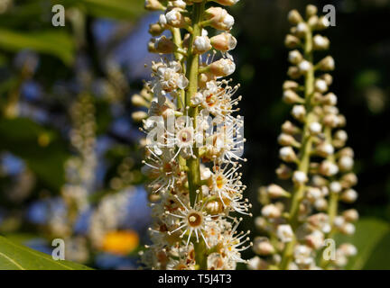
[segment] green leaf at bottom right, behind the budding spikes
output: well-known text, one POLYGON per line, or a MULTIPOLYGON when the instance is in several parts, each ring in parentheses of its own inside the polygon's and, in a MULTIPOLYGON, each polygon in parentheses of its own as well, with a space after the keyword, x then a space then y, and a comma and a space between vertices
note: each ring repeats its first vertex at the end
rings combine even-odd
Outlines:
POLYGON ((337 242, 350 242, 357 247, 357 256, 349 259, 346 269, 390 269, 390 225, 384 220, 359 220, 355 235, 338 236, 337 242))

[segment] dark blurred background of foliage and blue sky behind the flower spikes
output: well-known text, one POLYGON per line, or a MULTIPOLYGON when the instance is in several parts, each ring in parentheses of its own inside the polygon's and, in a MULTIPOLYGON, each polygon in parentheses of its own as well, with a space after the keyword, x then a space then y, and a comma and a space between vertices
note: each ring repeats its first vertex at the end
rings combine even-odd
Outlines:
MULTIPOLYGON (((96 108, 98 159, 90 191, 95 196, 90 197, 88 211, 93 213, 104 196, 130 189, 128 212, 115 230, 135 232, 139 247, 120 257, 102 248, 91 252, 94 257, 87 263, 136 266, 135 252, 148 241, 149 211, 139 173, 141 135, 131 118, 138 108, 131 95, 149 76, 144 64, 154 56, 146 50, 147 29, 158 19, 158 14, 144 12, 143 3, 0 0, 0 234, 41 250, 47 246, 44 241, 36 245, 37 238, 51 237, 47 205, 42 203, 61 201, 60 191, 69 181, 66 161, 77 155, 70 142, 74 126, 70 105, 88 93, 96 108), (51 25, 53 4, 66 7, 65 27, 51 25), (125 158, 131 163, 129 172, 119 177, 125 158), (118 178, 122 185, 113 180, 118 178)), ((286 18, 293 8, 303 13, 306 4, 316 4, 320 11, 333 4, 337 10, 336 27, 324 34, 337 65, 331 90, 339 96, 339 110, 347 117, 348 145, 355 150, 359 179, 355 206, 362 218, 350 239, 360 249, 357 265, 349 267, 390 269, 390 1, 241 0, 229 9, 236 18, 232 33, 238 40, 233 78, 241 83, 244 96, 240 107, 247 139, 246 193, 258 215, 257 188, 276 181, 276 139, 291 109, 281 101, 288 67, 288 50, 283 47, 290 28, 286 18)), ((90 225, 84 217, 81 231, 90 225)), ((255 235, 253 219, 246 219, 243 226, 255 235)), ((82 234, 75 231, 72 237, 82 234)), ((245 256, 253 256, 252 251, 245 256)))

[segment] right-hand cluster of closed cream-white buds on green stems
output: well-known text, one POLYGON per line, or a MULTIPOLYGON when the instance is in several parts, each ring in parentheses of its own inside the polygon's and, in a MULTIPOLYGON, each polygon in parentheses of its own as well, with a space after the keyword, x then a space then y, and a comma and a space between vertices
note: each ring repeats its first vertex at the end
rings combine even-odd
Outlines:
POLYGON ((306 18, 296 10, 289 14, 294 25, 285 39, 292 49, 288 69, 291 80, 283 84, 283 101, 292 104, 292 121, 285 121, 278 142, 283 164, 276 169, 286 188, 270 184, 259 189, 262 216, 255 224, 266 237, 255 238, 260 257, 250 260, 252 269, 341 268, 357 253, 351 244, 339 247, 336 232, 353 234, 357 211, 357 176, 352 172, 354 153, 345 147, 348 136, 342 128, 345 117, 336 107, 337 96, 329 91, 333 58, 314 60, 314 51, 329 48, 330 40, 317 31, 329 26, 317 8, 308 5, 306 18), (339 213, 339 203, 348 210, 339 213), (334 251, 333 251, 334 250, 334 251), (320 259, 320 260, 316 260, 320 259))

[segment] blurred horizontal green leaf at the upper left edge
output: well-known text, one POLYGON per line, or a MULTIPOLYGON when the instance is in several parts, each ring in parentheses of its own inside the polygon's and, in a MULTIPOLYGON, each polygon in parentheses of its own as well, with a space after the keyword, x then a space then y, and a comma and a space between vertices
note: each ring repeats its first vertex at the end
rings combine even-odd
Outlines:
POLYGON ((75 49, 72 38, 65 31, 22 32, 4 28, 0 28, 0 47, 11 51, 32 49, 58 57, 67 65, 73 62, 75 49))

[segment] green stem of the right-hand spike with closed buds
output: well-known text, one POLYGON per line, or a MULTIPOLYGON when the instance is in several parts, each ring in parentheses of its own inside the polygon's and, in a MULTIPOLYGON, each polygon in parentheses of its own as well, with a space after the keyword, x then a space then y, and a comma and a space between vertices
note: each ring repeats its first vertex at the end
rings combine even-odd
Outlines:
MULTIPOLYGON (((312 55, 312 32, 309 30, 305 35, 305 45, 304 45, 304 58, 312 63, 313 55, 312 55)), ((310 159, 311 159, 311 148, 312 148, 312 138, 309 131, 309 127, 311 122, 315 120, 315 115, 312 112, 311 106, 311 97, 314 92, 314 69, 311 69, 305 75, 305 88, 304 88, 304 96, 305 96, 305 108, 307 112, 306 121, 304 124, 303 132, 302 132, 302 147, 299 152, 299 165, 297 170, 304 172, 306 175, 309 173, 310 159)), ((295 184, 293 192, 292 192, 292 203, 289 211, 289 223, 292 227, 292 231, 295 234, 296 229, 299 226, 299 208, 304 197, 304 192, 306 189, 305 184, 295 184)), ((292 261, 292 253, 293 247, 296 243, 296 238, 293 238, 292 241, 288 242, 283 249, 282 260, 279 268, 285 270, 288 268, 290 262, 292 261)))

